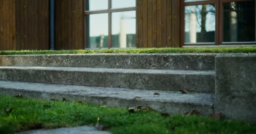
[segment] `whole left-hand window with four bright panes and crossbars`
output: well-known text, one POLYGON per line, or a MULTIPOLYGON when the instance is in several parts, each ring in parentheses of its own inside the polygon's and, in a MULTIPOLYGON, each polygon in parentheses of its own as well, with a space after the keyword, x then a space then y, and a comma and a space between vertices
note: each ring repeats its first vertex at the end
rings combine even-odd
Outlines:
POLYGON ((85 0, 85 48, 130 48, 136 40, 136 0, 85 0))

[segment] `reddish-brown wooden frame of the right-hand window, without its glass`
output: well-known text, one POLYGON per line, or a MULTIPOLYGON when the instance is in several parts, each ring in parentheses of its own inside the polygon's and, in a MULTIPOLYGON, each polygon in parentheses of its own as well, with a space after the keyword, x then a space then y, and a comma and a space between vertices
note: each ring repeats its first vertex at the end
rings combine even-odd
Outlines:
POLYGON ((223 3, 253 1, 253 0, 200 0, 184 2, 181 0, 181 44, 189 45, 234 45, 234 44, 256 44, 253 42, 223 42, 223 3), (215 4, 215 42, 214 43, 185 43, 185 6, 215 4))

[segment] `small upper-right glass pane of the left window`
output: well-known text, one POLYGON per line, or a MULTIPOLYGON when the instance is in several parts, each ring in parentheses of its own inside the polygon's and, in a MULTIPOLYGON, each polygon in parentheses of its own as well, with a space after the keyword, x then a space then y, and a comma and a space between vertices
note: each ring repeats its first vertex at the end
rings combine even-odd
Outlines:
POLYGON ((135 7, 136 0, 112 0, 112 8, 135 7))

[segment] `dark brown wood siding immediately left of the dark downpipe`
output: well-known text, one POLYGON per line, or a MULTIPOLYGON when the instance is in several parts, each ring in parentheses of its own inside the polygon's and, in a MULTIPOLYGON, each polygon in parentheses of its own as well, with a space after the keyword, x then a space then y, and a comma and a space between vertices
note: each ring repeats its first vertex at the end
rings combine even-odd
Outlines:
POLYGON ((49 0, 15 0, 16 49, 49 49, 49 0))

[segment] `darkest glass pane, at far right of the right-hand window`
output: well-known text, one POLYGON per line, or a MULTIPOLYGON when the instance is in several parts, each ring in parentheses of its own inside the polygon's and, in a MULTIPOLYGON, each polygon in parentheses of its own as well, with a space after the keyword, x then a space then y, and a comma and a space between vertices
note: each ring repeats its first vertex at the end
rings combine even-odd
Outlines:
POLYGON ((223 4, 223 42, 256 41, 256 0, 223 4))

